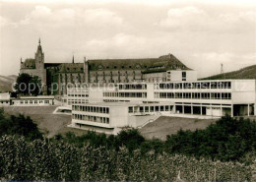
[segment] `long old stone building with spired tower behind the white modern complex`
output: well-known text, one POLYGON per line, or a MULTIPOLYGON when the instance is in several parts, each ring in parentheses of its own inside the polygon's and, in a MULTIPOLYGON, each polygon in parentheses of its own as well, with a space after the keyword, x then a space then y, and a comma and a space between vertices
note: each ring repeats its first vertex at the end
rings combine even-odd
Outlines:
POLYGON ((20 73, 38 76, 44 84, 44 94, 67 93, 70 84, 134 83, 196 80, 196 72, 175 56, 144 59, 95 59, 83 63, 45 63, 44 52, 38 42, 34 58, 21 60, 20 73))

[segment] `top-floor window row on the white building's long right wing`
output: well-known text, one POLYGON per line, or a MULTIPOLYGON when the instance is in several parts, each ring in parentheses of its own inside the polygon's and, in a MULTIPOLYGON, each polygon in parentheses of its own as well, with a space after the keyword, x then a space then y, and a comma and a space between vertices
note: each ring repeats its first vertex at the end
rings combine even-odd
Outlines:
POLYGON ((160 83, 156 90, 231 89, 231 82, 160 83))

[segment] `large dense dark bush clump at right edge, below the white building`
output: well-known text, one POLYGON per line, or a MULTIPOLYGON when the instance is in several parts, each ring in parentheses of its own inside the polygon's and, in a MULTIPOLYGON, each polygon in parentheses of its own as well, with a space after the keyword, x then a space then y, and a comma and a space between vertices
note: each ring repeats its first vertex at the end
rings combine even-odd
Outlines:
POLYGON ((238 160, 256 149, 256 122, 224 116, 205 130, 167 136, 166 147, 173 153, 238 160))

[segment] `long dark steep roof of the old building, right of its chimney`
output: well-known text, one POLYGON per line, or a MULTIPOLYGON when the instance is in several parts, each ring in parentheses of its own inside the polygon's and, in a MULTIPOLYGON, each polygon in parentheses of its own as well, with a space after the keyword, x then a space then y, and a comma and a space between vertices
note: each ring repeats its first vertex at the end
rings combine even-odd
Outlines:
POLYGON ((90 71, 101 70, 143 70, 158 72, 167 70, 190 70, 173 55, 145 59, 95 59, 89 60, 90 71))

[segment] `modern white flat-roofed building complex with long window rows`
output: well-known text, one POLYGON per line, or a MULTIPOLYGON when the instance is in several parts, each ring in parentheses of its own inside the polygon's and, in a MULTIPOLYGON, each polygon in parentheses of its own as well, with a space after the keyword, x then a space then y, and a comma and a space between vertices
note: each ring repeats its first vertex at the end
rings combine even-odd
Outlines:
POLYGON ((142 127, 160 115, 218 118, 256 113, 255 80, 125 83, 68 92, 70 126, 104 133, 142 127))

